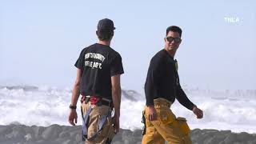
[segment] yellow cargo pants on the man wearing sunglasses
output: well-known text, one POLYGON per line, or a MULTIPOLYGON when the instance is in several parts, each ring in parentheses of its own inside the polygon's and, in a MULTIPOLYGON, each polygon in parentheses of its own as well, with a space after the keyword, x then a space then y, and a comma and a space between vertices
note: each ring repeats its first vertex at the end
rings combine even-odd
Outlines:
POLYGON ((149 121, 148 107, 145 107, 146 134, 143 135, 142 144, 192 144, 190 128, 185 118, 176 118, 170 110, 171 103, 164 98, 154 99, 154 108, 158 118, 149 121))

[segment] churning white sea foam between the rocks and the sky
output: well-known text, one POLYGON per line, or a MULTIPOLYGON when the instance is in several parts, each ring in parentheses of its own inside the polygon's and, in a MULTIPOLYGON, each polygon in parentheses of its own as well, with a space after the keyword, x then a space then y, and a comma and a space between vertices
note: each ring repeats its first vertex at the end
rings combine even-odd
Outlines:
MULTIPOLYGON (((232 130, 256 133, 256 90, 186 90, 192 102, 204 111, 197 119, 176 100, 171 106, 176 116, 185 117, 191 129, 232 130)), ((28 126, 69 125, 71 90, 54 87, 0 87, 0 125, 19 122, 28 126)), ((142 128, 145 98, 133 90, 122 95, 121 127, 142 128)), ((78 102, 78 107, 80 106, 78 102)), ((82 124, 78 108, 78 125, 82 124)))

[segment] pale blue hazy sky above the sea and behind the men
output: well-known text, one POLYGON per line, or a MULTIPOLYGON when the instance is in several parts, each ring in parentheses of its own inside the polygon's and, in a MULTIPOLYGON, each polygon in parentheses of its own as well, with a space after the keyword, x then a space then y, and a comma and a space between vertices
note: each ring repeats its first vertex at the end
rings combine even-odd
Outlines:
POLYGON ((256 89, 256 2, 0 1, 0 85, 73 85, 80 51, 98 41, 98 20, 117 28, 124 89, 138 90, 166 27, 183 30, 175 56, 184 87, 256 89))

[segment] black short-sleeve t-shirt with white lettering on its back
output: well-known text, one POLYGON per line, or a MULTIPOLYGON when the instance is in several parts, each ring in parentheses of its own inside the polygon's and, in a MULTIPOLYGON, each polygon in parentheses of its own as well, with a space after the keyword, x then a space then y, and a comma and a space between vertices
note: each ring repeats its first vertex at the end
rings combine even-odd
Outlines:
POLYGON ((98 43, 83 49, 74 66, 82 70, 82 95, 108 99, 112 99, 111 77, 124 73, 120 54, 110 46, 98 43))

